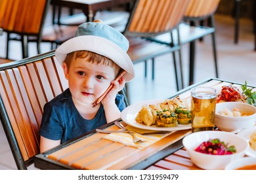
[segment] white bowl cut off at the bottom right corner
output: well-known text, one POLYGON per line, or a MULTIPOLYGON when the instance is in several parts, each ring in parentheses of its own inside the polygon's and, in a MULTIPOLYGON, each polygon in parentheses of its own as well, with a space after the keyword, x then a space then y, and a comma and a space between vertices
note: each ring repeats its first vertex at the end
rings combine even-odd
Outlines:
POLYGON ((232 161, 226 165, 225 170, 236 170, 238 168, 247 166, 247 165, 255 165, 256 167, 256 158, 253 157, 245 157, 241 159, 237 159, 236 161, 232 161))

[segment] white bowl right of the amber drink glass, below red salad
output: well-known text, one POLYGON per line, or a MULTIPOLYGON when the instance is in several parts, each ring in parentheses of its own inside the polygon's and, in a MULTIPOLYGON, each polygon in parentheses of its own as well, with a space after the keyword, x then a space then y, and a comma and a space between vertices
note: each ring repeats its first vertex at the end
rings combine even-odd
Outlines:
POLYGON ((217 103, 215 108, 215 122, 214 124, 222 131, 236 132, 247 127, 252 127, 256 122, 256 107, 249 105, 247 103, 239 102, 226 102, 217 103), (251 113, 249 116, 233 117, 233 116, 223 116, 219 114, 224 108, 233 111, 234 107, 241 110, 242 113, 251 113))

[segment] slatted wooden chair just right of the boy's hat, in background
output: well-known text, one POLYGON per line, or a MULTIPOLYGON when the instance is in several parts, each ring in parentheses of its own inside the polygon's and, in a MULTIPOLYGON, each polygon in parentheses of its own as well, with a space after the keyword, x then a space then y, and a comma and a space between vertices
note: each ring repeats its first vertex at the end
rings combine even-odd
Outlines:
POLYGON ((178 51, 180 58, 179 64, 182 63, 180 45, 175 45, 172 42, 165 45, 161 42, 144 39, 144 37, 153 38, 164 33, 171 35, 171 32, 177 29, 180 24, 189 2, 190 0, 136 1, 125 31, 123 32, 130 42, 127 53, 133 60, 133 63, 139 63, 140 61, 145 61, 146 63, 148 59, 152 59, 152 78, 154 78, 154 58, 163 54, 173 53, 177 90, 180 90, 182 85, 175 60, 175 51, 178 51))

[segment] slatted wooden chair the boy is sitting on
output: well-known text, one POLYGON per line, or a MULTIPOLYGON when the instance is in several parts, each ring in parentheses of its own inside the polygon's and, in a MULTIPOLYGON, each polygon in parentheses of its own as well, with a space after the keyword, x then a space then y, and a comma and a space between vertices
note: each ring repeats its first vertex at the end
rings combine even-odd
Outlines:
MULTIPOLYGON (((68 88, 54 50, 0 65, 0 120, 18 169, 39 154, 39 127, 45 103, 68 88)), ((122 90, 127 103, 127 95, 122 90)))

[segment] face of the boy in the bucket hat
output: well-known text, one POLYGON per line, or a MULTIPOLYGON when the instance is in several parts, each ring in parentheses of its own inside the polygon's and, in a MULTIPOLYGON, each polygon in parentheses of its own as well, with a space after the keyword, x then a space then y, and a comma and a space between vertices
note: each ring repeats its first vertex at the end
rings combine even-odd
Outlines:
POLYGON ((110 86, 117 71, 110 66, 89 63, 85 59, 73 60, 69 69, 66 63, 63 63, 63 69, 74 103, 91 105, 110 86))

